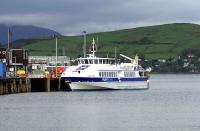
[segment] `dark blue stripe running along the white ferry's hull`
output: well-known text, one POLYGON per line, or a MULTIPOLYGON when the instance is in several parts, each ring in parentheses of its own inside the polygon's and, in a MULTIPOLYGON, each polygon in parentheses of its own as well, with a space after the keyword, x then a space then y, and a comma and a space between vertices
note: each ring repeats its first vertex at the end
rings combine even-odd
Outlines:
POLYGON ((63 77, 71 82, 116 82, 116 81, 147 81, 147 77, 142 78, 99 78, 99 77, 63 77))

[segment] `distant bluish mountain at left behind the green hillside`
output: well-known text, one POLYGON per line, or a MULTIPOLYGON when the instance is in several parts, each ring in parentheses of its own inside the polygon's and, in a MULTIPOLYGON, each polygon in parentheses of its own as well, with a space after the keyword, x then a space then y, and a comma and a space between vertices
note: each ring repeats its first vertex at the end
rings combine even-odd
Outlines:
MULTIPOLYGON (((49 37, 60 35, 58 32, 32 25, 13 25, 10 26, 12 32, 11 41, 28 38, 49 37)), ((8 26, 0 24, 0 43, 7 43, 8 26)))

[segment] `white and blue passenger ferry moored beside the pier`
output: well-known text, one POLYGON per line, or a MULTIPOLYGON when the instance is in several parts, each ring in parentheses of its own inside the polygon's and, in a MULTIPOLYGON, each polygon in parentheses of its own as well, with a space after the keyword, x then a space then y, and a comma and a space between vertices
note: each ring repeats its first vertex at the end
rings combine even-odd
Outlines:
POLYGON ((129 63, 117 62, 116 58, 99 58, 95 56, 96 44, 93 39, 91 54, 78 58, 78 65, 68 67, 61 75, 74 90, 107 90, 107 89, 148 89, 147 72, 138 64, 138 56, 129 59, 129 63))

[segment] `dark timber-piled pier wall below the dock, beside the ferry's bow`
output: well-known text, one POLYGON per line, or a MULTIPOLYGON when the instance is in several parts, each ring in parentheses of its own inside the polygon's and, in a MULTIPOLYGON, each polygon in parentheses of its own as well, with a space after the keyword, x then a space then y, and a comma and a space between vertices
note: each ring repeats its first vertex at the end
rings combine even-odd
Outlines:
POLYGON ((70 91, 60 78, 1 78, 0 95, 26 92, 70 91))

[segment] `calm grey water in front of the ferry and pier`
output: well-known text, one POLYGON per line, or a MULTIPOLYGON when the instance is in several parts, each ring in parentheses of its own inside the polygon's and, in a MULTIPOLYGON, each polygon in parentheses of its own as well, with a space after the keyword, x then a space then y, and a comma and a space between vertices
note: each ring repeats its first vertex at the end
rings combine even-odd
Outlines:
POLYGON ((0 96, 0 131, 199 131, 200 75, 152 75, 149 90, 0 96))

